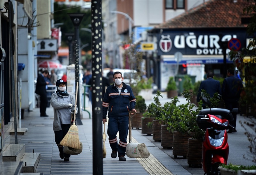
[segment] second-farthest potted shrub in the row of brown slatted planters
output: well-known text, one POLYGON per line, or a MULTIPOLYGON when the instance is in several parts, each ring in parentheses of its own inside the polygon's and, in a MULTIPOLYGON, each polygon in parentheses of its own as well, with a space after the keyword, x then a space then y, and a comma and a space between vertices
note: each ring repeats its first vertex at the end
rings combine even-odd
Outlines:
POLYGON ((159 96, 162 97, 160 91, 157 91, 156 96, 154 97, 154 103, 152 102, 148 105, 148 110, 141 118, 141 133, 150 135, 153 133, 153 120, 156 116, 160 115, 162 111, 159 96))

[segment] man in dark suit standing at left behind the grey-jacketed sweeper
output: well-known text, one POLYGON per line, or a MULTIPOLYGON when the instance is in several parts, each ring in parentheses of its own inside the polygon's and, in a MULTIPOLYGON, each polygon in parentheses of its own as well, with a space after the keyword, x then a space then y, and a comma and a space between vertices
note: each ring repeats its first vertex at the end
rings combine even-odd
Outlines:
POLYGON ((36 94, 40 95, 40 117, 48 117, 46 114, 46 107, 47 107, 47 93, 46 93, 46 86, 49 84, 48 81, 44 80, 49 72, 43 71, 39 72, 36 80, 36 94))

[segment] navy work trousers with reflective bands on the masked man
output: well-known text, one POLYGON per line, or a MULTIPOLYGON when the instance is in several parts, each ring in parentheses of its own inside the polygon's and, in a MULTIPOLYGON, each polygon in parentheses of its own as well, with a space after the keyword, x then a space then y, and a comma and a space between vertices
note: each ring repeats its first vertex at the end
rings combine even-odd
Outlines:
POLYGON ((118 152, 118 157, 125 156, 127 145, 129 117, 110 117, 108 119, 108 140, 113 151, 118 152), (119 132, 119 143, 116 134, 119 132))

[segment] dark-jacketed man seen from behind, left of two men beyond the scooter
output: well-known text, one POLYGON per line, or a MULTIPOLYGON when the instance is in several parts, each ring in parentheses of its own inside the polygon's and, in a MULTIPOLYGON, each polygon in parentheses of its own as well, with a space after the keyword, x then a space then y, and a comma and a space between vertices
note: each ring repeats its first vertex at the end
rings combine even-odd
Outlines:
MULTIPOLYGON (((213 79, 213 73, 208 72, 207 73, 207 79, 202 81, 198 90, 197 94, 197 103, 200 101, 200 95, 202 89, 205 89, 205 91, 210 95, 212 98, 215 92, 218 92, 218 94, 221 95, 221 88, 220 88, 220 81, 213 79)), ((205 108, 204 104, 203 107, 205 108)))

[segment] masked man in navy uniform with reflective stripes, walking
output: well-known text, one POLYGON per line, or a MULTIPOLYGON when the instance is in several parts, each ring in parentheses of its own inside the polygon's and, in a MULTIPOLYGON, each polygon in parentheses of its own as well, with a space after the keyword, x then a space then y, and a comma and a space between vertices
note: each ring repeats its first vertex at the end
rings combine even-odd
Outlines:
POLYGON ((126 161, 125 149, 127 145, 129 111, 136 113, 136 104, 132 88, 123 83, 124 77, 121 72, 114 72, 114 84, 108 86, 102 101, 102 122, 107 122, 108 112, 108 140, 112 149, 111 157, 119 161, 126 161), (119 143, 116 134, 119 132, 119 143))

